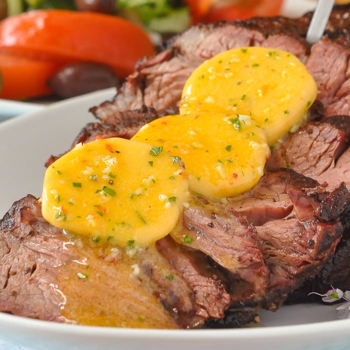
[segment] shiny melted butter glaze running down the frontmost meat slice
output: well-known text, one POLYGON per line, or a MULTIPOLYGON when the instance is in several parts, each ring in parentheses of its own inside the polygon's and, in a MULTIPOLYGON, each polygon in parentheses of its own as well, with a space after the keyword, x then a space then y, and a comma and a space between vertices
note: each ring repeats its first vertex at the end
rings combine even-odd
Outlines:
POLYGON ((57 286, 65 299, 62 317, 99 326, 178 327, 156 296, 140 283, 135 258, 86 238, 73 244, 81 245, 78 251, 72 247, 78 256, 57 271, 57 286))

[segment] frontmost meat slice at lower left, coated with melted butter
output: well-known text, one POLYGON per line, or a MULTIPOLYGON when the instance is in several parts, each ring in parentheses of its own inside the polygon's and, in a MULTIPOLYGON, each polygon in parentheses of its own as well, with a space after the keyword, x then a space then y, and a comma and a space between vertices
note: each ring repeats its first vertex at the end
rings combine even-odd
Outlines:
MULTIPOLYGON (((0 242, 2 312, 81 324, 181 326, 170 312, 164 312, 150 279, 143 278, 140 283, 137 260, 124 261, 120 249, 104 249, 91 239, 84 242, 51 226, 32 195, 13 203, 4 215, 0 242)), ((150 256, 160 268, 157 255, 150 256)), ((180 318, 186 327, 196 325, 192 291, 173 268, 165 266, 164 272, 162 283, 166 283, 166 275, 176 276, 167 285, 172 294, 167 307, 176 308, 176 315, 186 315, 185 320, 180 318)))

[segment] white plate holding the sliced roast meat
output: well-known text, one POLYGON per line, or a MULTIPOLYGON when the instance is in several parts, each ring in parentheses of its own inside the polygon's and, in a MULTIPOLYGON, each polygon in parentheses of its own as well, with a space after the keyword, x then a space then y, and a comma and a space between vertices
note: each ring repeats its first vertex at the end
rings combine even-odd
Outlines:
MULTIPOLYGON (((88 108, 111 98, 107 89, 53 103, 0 124, 0 216, 27 193, 41 194, 44 162, 67 150, 80 128, 94 120, 88 108)), ((39 349, 348 349, 350 320, 334 306, 284 306, 261 312, 261 326, 224 330, 139 330, 76 326, 0 313, 0 338, 39 349)))

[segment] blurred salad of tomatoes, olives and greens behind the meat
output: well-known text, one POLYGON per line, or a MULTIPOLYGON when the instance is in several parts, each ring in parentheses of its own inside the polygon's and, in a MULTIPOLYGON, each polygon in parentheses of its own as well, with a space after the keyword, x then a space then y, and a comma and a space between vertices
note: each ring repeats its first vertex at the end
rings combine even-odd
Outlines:
POLYGON ((0 0, 0 98, 118 86, 137 60, 199 22, 279 13, 282 0, 0 0))

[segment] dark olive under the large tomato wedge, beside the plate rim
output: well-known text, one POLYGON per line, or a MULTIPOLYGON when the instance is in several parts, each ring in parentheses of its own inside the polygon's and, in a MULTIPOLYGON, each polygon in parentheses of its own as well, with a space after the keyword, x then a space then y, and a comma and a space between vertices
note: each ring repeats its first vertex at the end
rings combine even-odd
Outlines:
POLYGON ((95 62, 70 63, 60 68, 47 82, 59 97, 68 98, 119 84, 114 71, 95 62))

